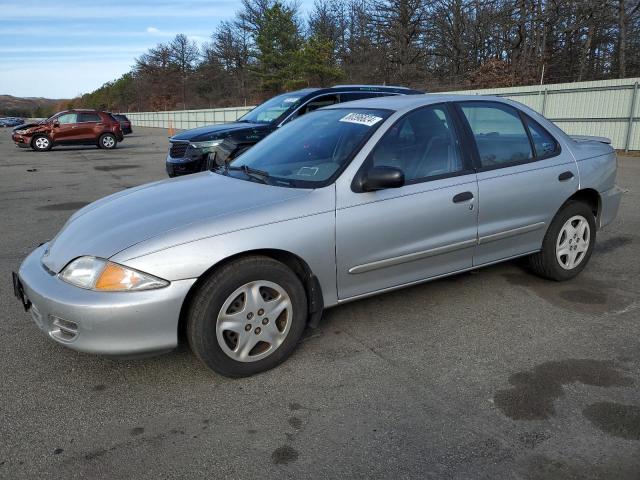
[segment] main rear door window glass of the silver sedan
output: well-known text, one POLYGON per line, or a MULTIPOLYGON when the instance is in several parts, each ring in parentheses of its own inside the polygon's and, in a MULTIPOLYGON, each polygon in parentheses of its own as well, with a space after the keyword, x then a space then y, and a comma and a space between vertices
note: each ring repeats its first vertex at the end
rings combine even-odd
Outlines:
POLYGON ((482 167, 533 159, 529 136, 514 108, 487 102, 464 102, 460 108, 471 127, 482 167))

